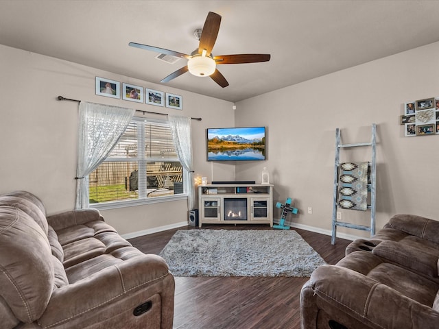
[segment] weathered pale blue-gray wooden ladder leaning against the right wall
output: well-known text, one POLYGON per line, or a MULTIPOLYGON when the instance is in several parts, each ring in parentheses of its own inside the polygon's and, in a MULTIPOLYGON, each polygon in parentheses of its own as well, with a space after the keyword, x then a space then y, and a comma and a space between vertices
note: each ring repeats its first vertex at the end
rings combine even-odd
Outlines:
POLYGON ((370 236, 375 235, 375 208, 376 208, 376 186, 377 186, 377 125, 372 123, 372 138, 370 142, 342 144, 340 138, 340 129, 335 130, 335 167, 334 167, 334 197, 333 197, 333 212, 332 212, 332 239, 331 244, 335 244, 335 237, 337 235, 337 226, 344 228, 353 228, 355 230, 369 231, 370 236), (367 208, 370 210, 370 226, 362 226, 353 223, 346 223, 337 221, 337 193, 338 193, 338 171, 340 168, 340 149, 342 147, 372 147, 372 159, 370 165, 370 183, 368 183, 368 191, 370 191, 370 204, 367 208))

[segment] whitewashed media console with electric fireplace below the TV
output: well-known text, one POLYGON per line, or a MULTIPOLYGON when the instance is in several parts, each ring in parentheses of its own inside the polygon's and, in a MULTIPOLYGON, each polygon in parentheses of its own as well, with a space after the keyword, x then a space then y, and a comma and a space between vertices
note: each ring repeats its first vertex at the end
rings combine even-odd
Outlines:
POLYGON ((198 201, 200 228, 203 223, 273 226, 272 184, 200 185, 198 201))

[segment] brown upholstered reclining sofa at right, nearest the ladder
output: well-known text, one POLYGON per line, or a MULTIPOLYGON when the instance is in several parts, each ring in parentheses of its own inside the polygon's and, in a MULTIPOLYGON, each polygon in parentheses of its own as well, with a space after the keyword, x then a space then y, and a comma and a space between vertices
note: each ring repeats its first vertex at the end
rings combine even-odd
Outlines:
POLYGON ((438 329, 439 222, 396 215, 302 287, 302 329, 438 329))

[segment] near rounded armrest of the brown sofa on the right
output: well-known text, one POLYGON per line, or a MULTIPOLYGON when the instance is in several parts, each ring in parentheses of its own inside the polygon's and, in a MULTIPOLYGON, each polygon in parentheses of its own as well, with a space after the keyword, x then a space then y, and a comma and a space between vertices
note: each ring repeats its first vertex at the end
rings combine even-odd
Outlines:
POLYGON ((439 321, 439 313, 432 308, 337 265, 318 267, 302 287, 302 328, 316 328, 312 322, 316 321, 313 317, 318 309, 349 329, 355 328, 353 319, 367 328, 434 329, 439 321))

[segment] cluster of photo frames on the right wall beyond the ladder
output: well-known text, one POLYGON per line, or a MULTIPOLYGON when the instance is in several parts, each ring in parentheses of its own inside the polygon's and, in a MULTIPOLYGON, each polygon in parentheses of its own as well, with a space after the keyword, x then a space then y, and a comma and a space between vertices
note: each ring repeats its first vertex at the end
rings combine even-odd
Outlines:
POLYGON ((439 134, 439 97, 404 103, 400 123, 406 137, 439 134))

